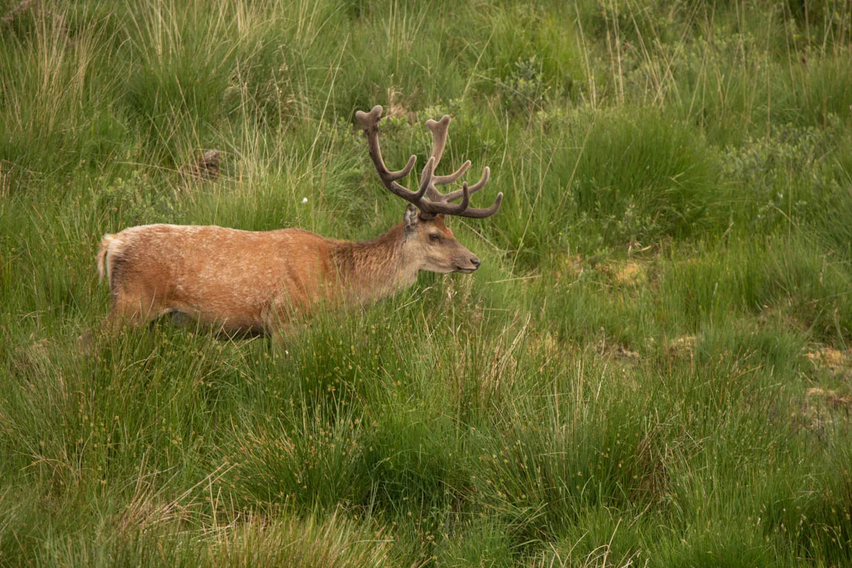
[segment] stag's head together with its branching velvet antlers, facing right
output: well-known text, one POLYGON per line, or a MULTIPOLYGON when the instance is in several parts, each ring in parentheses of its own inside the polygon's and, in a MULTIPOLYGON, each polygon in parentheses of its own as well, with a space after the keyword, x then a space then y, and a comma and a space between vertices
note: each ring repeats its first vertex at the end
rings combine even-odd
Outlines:
POLYGON ((480 266, 479 259, 458 242, 452 231, 446 227, 444 220, 446 215, 483 219, 497 213, 503 201, 503 193, 498 193, 494 204, 487 209, 469 207, 470 195, 486 185, 491 170, 486 167, 480 181, 473 186, 468 186, 468 183, 463 181, 462 188, 454 192, 441 193, 437 190, 435 186, 457 181, 470 167, 470 160, 467 160, 452 174, 435 175, 435 169, 444 153, 447 130, 450 126, 450 117, 444 115, 438 121, 426 121, 426 126, 432 131, 435 142, 432 155, 420 174, 420 187, 417 192, 412 192, 405 186, 401 186, 398 180, 411 173, 417 157, 409 158, 406 166, 398 171, 390 171, 384 164, 378 142, 378 123, 382 119, 382 106, 373 106, 370 112, 358 111, 355 117, 358 118, 366 133, 370 158, 376 166, 382 183, 394 195, 409 203, 402 220, 405 232, 405 254, 418 259, 420 270, 435 273, 474 272, 480 266), (452 203, 459 198, 461 203, 452 203))

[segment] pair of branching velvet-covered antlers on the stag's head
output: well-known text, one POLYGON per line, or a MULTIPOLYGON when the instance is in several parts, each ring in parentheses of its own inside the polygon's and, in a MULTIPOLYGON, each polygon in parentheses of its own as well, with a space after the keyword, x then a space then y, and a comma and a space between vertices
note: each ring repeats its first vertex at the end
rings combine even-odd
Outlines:
POLYGON ((405 186, 397 183, 397 180, 411 173, 414 163, 417 161, 416 156, 408 158, 406 166, 394 172, 389 171, 388 167, 384 164, 382 151, 378 144, 378 123, 382 119, 382 106, 373 106, 370 112, 355 112, 355 118, 358 118, 361 127, 366 133, 367 144, 370 148, 370 158, 372 158, 384 186, 394 193, 394 195, 414 204, 417 209, 420 209, 421 216, 458 215, 460 217, 483 219, 494 215, 500 209, 500 203, 503 201, 502 192, 497 194, 497 199, 491 207, 486 209, 469 208, 470 194, 478 192, 488 183, 491 170, 487 167, 483 171, 480 181, 477 181, 473 186, 468 186, 467 182, 464 181, 460 190, 449 193, 441 193, 435 188, 435 186, 444 186, 457 181, 470 167, 470 160, 467 160, 450 175, 435 175, 435 168, 438 167, 440 158, 444 153, 447 130, 450 126, 450 117, 446 114, 438 121, 426 121, 426 126, 432 131, 435 143, 432 146, 432 155, 429 157, 429 161, 426 162, 426 166, 420 174, 420 188, 417 192, 412 192, 405 186), (429 199, 424 199, 424 197, 428 197, 429 199), (462 198, 461 203, 451 203, 458 198, 462 198))

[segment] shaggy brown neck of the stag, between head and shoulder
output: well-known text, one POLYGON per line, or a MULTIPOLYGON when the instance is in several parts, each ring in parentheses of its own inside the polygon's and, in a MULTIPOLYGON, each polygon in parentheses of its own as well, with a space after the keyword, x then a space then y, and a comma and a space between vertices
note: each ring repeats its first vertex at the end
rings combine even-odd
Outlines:
POLYGON ((334 268, 352 299, 377 301, 414 284, 419 266, 406 258, 405 238, 400 223, 369 241, 335 245, 334 268))

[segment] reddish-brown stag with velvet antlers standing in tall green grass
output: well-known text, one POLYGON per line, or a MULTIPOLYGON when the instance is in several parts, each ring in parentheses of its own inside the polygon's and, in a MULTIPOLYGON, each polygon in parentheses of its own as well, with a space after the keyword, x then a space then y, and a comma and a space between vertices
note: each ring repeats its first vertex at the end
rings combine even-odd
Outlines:
POLYGON ((141 325, 182 313, 227 334, 277 334, 279 326, 307 315, 320 301, 376 301, 414 284, 421 270, 474 272, 479 259, 453 237, 444 217, 494 215, 503 193, 487 209, 469 207, 470 194, 488 181, 488 168, 473 186, 464 182, 449 193, 435 188, 457 181, 470 166, 468 160, 450 175, 435 175, 450 117, 426 123, 435 144, 416 192, 398 183, 412 171, 416 157, 399 171, 389 171, 382 159, 382 107, 356 117, 384 186, 409 203, 401 223, 363 243, 295 228, 251 232, 143 225, 107 234, 97 257, 112 299, 105 326, 141 325), (461 203, 452 203, 459 198, 461 203))

